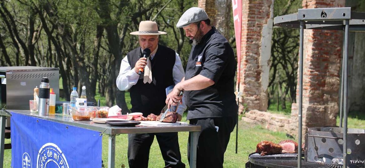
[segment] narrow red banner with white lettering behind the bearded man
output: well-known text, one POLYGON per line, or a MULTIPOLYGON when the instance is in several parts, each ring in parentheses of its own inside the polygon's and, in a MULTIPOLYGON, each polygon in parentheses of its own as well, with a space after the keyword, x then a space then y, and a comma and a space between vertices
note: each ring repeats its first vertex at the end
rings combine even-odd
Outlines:
MULTIPOLYGON (((242 0, 232 0, 234 33, 236 37, 237 48, 237 87, 239 88, 239 79, 241 72, 241 26, 242 26, 242 0)), ((239 89, 238 89, 239 90, 239 89)))

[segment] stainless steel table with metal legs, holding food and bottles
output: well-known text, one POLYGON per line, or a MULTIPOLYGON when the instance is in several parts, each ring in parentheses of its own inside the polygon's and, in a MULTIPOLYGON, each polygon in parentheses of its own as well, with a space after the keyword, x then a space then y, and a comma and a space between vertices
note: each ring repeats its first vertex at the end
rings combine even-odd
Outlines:
POLYGON ((0 168, 3 168, 4 163, 4 138, 5 138, 5 117, 11 116, 11 113, 19 113, 27 116, 32 116, 39 119, 54 121, 57 123, 72 125, 75 127, 90 129, 109 136, 108 140, 108 168, 115 167, 115 136, 125 133, 159 133, 159 132, 191 132, 190 141, 190 167, 196 167, 196 145, 197 135, 200 131, 200 126, 196 125, 173 125, 173 126, 142 126, 137 127, 112 127, 107 124, 97 124, 92 121, 74 121, 71 116, 65 115, 49 115, 39 116, 38 113, 30 113, 28 110, 0 110, 0 168))

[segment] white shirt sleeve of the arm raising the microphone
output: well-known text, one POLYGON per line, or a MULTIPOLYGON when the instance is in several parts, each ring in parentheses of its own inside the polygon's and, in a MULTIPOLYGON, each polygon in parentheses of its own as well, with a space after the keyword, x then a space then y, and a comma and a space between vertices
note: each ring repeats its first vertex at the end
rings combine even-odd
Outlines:
POLYGON ((128 63, 128 58, 125 56, 122 63, 120 63, 120 71, 116 78, 116 86, 119 90, 125 91, 135 85, 138 79, 138 73, 136 73, 134 69, 131 69, 131 66, 128 63))

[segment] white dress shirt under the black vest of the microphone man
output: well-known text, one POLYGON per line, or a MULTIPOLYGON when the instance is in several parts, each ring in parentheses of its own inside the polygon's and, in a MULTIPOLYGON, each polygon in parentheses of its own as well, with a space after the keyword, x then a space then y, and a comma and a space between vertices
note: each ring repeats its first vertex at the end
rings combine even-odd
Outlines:
MULTIPOLYGON (((155 54, 151 54, 150 58, 153 59, 155 54)), ((175 85, 179 83, 183 77, 185 77, 185 72, 183 68, 183 64, 181 64, 180 56, 178 53, 175 54, 175 64, 172 69, 172 77, 174 80, 175 85)), ((125 56, 122 60, 122 63, 120 64, 120 71, 119 75, 116 78, 116 86, 119 90, 125 91, 127 89, 130 89, 133 85, 137 84, 139 79, 138 73, 134 71, 134 68, 131 68, 131 66, 128 63, 128 58, 125 56)), ((177 113, 183 116, 183 113, 186 109, 185 100, 184 97, 181 99, 183 101, 183 104, 180 104, 177 108, 177 113)))

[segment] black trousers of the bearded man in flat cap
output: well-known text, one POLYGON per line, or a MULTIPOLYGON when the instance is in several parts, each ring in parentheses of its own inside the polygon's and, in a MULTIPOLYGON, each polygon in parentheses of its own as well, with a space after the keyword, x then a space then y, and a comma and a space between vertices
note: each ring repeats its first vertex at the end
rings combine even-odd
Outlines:
MULTIPOLYGON (((216 117, 191 119, 190 124, 200 125, 196 152, 197 168, 223 168, 224 152, 237 117, 216 117), (219 127, 218 132, 215 126, 219 127)), ((190 163, 190 133, 188 140, 188 160, 190 163)))

